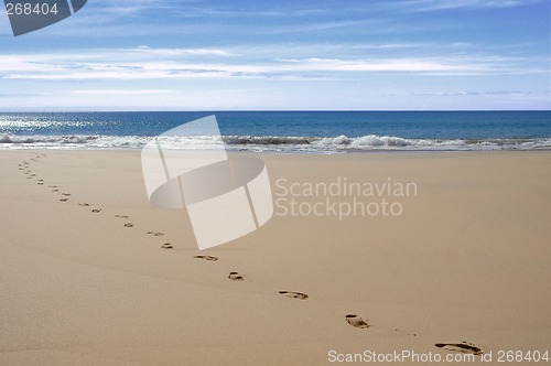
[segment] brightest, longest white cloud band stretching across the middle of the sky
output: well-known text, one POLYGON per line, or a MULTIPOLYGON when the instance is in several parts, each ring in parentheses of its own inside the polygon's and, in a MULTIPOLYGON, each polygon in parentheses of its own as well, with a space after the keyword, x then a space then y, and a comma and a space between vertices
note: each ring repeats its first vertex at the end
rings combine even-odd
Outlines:
MULTIPOLYGON (((401 45, 403 47, 403 45, 401 45)), ((244 51, 244 50, 241 50, 244 51)), ((540 67, 538 67, 540 66, 540 67)), ((140 80, 177 78, 357 77, 363 73, 484 75, 544 73, 521 58, 499 55, 428 57, 296 57, 263 58, 223 49, 152 49, 139 46, 87 53, 0 55, 0 78, 35 80, 140 80)))

